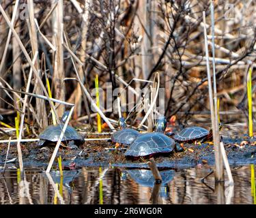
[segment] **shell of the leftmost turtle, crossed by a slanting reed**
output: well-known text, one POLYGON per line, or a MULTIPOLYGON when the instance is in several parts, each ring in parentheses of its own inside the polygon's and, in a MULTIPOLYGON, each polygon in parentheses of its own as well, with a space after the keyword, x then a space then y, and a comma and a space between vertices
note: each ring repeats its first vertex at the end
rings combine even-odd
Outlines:
MULTIPOLYGON (((42 131, 42 133, 39 135, 39 138, 42 140, 57 142, 63 127, 63 124, 49 125, 46 129, 44 129, 44 131, 42 131)), ((77 133, 76 129, 68 125, 62 138, 62 141, 66 140, 83 140, 83 138, 77 133)))

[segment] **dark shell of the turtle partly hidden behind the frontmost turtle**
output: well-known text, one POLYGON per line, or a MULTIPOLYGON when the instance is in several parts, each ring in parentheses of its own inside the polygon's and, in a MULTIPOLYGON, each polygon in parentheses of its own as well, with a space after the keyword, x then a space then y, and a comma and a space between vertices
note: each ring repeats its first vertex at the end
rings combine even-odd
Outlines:
POLYGON ((113 142, 121 143, 121 144, 132 144, 134 140, 136 140, 141 134, 139 131, 134 129, 122 129, 116 131, 112 136, 111 140, 113 142))

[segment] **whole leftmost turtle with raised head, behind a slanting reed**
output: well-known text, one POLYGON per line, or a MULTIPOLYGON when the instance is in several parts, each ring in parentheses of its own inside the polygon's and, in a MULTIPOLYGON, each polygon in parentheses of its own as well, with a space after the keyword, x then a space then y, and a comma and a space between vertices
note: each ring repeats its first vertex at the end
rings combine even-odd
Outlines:
MULTIPOLYGON (((59 136, 61 131, 64 127, 66 119, 68 118, 69 111, 64 112, 63 116, 61 117, 61 123, 59 125, 50 125, 39 135, 40 141, 38 142, 39 146, 43 146, 45 144, 55 144, 59 140, 59 136), (55 143, 54 143, 55 142, 55 143)), ((83 144, 85 140, 80 136, 76 129, 71 127, 70 125, 67 126, 65 134, 62 138, 62 142, 66 142, 70 149, 77 149, 77 145, 83 144)))

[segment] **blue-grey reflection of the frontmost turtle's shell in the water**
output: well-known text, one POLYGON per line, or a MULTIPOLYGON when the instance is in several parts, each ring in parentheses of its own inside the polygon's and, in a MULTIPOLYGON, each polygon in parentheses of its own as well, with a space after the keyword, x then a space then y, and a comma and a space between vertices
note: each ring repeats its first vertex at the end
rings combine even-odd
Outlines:
MULTIPOLYGON (((151 170, 145 169, 136 169, 136 170, 127 170, 128 174, 136 183, 146 187, 153 187, 155 183, 155 178, 151 170)), ((162 170, 160 175, 162 177, 161 185, 169 183, 174 177, 174 170, 162 170)))

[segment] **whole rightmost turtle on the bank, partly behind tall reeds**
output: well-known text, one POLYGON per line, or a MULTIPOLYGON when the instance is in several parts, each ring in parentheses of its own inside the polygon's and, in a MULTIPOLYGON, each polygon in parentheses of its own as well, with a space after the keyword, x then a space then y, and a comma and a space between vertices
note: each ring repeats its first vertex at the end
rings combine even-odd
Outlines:
MULTIPOLYGON (((223 124, 220 123, 219 129, 221 130, 222 127, 223 124)), ((174 140, 177 142, 195 142, 195 140, 200 140, 200 142, 212 141, 212 129, 208 131, 202 127, 186 127, 175 134, 174 140)))

